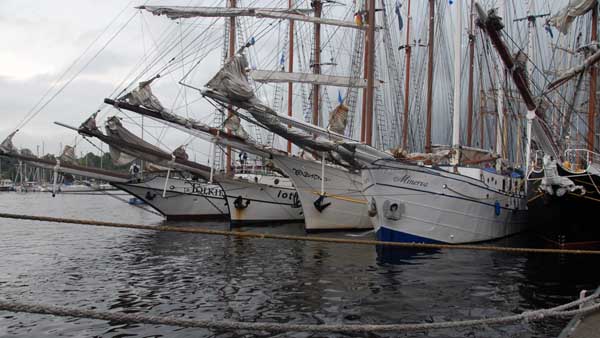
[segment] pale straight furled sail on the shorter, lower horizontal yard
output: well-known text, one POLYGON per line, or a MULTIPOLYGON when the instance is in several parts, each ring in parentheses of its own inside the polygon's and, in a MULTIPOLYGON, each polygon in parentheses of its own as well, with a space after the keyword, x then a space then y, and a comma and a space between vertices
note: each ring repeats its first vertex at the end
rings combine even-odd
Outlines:
MULTIPOLYGON (((251 70, 250 77, 256 82, 265 83, 310 83, 323 86, 366 88, 367 80, 345 76, 334 76, 311 73, 289 73, 270 70, 251 70)), ((375 87, 379 86, 380 81, 375 81, 375 87)))

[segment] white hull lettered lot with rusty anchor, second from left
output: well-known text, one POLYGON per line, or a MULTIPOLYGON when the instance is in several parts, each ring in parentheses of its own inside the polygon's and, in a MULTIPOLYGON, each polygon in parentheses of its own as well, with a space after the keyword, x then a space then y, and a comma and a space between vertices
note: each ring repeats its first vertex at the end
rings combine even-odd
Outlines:
POLYGON ((296 189, 286 178, 241 175, 218 180, 225 191, 232 225, 304 220, 296 189))

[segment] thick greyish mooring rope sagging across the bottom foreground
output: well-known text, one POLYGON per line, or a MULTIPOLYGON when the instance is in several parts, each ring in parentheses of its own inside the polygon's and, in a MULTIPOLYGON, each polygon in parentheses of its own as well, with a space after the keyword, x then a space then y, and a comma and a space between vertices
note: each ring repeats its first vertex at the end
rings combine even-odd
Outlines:
POLYGON ((520 321, 542 321, 549 318, 570 318, 575 315, 583 315, 598 311, 600 302, 597 302, 598 292, 590 296, 580 298, 568 304, 556 306, 549 309, 526 311, 517 315, 504 317, 482 318, 459 321, 444 321, 434 323, 410 323, 410 324, 288 324, 268 322, 236 322, 220 320, 194 320, 180 319, 165 316, 148 316, 123 312, 108 312, 98 310, 74 309, 63 306, 51 306, 44 304, 21 303, 8 300, 0 300, 0 310, 11 312, 25 312, 46 314, 61 317, 76 317, 86 319, 107 320, 118 323, 136 323, 152 325, 168 325, 186 328, 204 328, 213 330, 252 330, 269 332, 320 332, 320 333, 370 333, 370 332, 408 332, 429 331, 449 328, 463 328, 483 325, 510 324, 520 321), (568 310, 577 305, 578 309, 568 310), (591 304, 589 304, 591 303, 591 304))

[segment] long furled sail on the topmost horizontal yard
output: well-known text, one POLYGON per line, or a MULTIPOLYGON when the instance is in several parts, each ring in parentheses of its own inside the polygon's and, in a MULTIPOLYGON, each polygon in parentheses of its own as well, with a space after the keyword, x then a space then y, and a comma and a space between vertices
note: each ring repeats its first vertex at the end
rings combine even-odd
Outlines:
POLYGON ((140 6, 154 15, 166 15, 170 19, 194 18, 194 17, 236 17, 253 16, 257 18, 288 19, 348 27, 355 29, 366 29, 367 25, 358 25, 352 21, 317 18, 306 15, 303 9, 278 9, 278 8, 223 8, 223 7, 201 7, 201 6, 140 6))

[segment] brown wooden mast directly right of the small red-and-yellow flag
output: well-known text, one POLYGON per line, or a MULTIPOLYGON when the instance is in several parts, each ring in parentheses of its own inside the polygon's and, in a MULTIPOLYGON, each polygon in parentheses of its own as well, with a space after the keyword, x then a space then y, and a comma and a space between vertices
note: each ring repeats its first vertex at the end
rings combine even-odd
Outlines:
POLYGON ((375 0, 369 0, 367 40, 369 48, 366 50, 367 58, 367 109, 365 114, 365 143, 373 142, 373 101, 375 96, 375 0))

